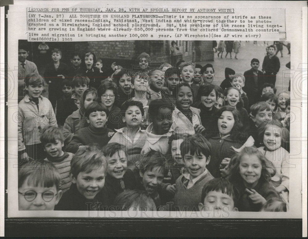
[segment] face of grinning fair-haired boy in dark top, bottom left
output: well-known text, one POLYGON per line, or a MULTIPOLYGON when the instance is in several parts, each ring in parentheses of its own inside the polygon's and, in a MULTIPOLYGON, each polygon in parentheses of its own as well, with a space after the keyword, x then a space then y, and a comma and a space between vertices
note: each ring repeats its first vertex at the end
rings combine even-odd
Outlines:
POLYGON ((93 169, 91 172, 79 172, 77 178, 72 176, 72 183, 77 186, 78 192, 86 199, 94 199, 105 184, 105 168, 93 169))

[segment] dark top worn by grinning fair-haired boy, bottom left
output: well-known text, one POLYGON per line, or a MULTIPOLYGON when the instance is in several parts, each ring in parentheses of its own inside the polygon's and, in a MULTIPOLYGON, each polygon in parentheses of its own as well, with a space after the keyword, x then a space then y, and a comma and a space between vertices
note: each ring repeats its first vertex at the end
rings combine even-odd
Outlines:
POLYGON ((59 203, 55 205, 55 210, 60 211, 100 211, 104 209, 107 209, 107 197, 102 190, 93 200, 87 200, 80 194, 76 184, 72 184, 70 189, 63 193, 59 203))

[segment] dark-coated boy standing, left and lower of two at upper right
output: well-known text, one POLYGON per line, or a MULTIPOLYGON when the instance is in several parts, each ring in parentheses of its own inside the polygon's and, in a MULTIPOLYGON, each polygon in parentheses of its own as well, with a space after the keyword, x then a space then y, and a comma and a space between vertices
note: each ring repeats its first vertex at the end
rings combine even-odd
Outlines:
POLYGON ((245 86, 243 87, 243 91, 246 92, 248 97, 248 107, 259 101, 261 87, 264 84, 263 72, 258 70, 259 60, 253 58, 250 66, 251 69, 244 72, 245 86))

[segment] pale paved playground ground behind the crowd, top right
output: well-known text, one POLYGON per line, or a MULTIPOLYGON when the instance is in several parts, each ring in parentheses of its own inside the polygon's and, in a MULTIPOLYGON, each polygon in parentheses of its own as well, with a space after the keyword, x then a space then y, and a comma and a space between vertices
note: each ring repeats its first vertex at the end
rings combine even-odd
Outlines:
MULTIPOLYGON (((218 42, 218 41, 217 41, 218 42)), ((273 42, 269 42, 271 45, 273 42)), ((217 53, 214 54, 214 62, 197 62, 198 64, 204 66, 206 63, 211 63, 215 70, 215 80, 214 84, 220 85, 220 83, 225 79, 225 67, 233 69, 236 73, 244 74, 245 71, 249 70, 250 61, 253 58, 257 58, 260 61, 259 70, 261 71, 262 63, 264 56, 266 54, 265 48, 267 45, 264 45, 263 41, 257 41, 257 44, 253 44, 253 41, 245 42, 241 41, 240 52, 237 54, 238 59, 234 59, 235 53, 232 52, 232 59, 228 54, 225 58, 226 52, 223 54, 223 58, 218 58, 217 53)), ((280 61, 280 70, 276 78, 276 88, 277 92, 282 90, 287 90, 289 87, 289 69, 286 68, 286 63, 290 62, 290 55, 288 55, 288 50, 286 47, 283 47, 283 57, 281 57, 280 52, 277 56, 280 61)))

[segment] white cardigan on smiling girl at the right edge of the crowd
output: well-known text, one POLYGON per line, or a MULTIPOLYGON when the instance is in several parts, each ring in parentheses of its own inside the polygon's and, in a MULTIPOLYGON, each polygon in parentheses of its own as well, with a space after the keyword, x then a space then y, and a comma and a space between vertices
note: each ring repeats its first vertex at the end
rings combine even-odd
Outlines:
POLYGON ((259 147, 258 150, 273 163, 276 174, 272 176, 272 181, 280 183, 289 190, 289 152, 279 147, 274 151, 266 150, 265 147, 259 147))

